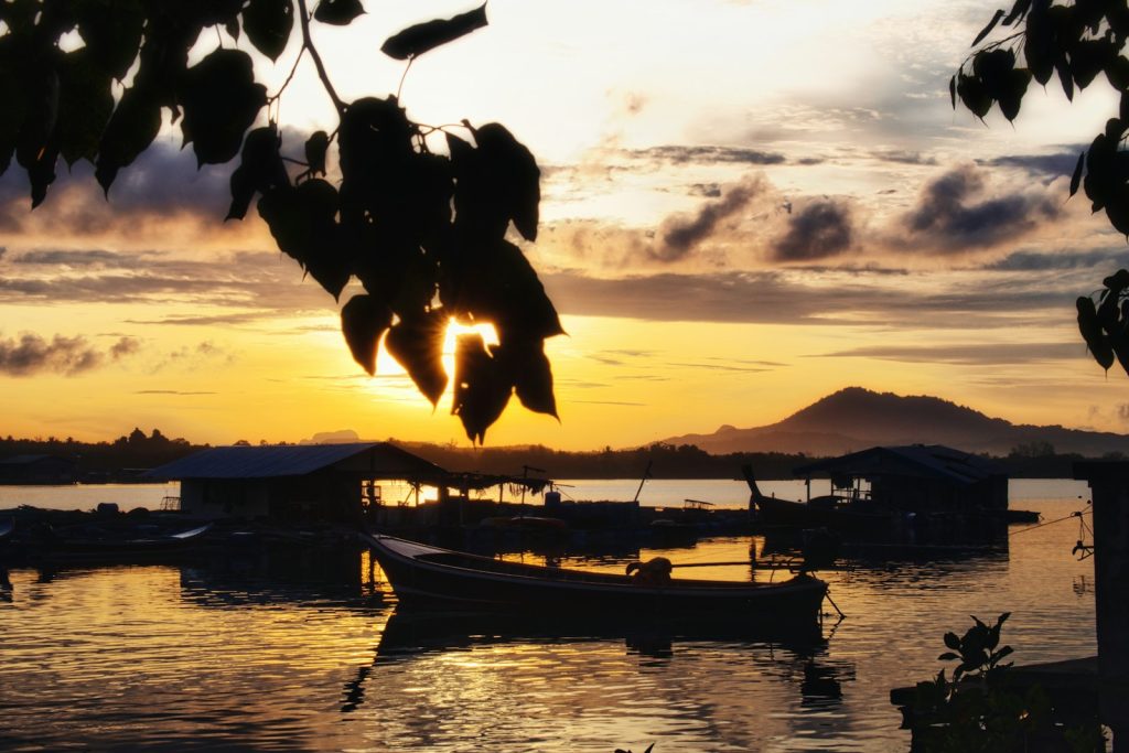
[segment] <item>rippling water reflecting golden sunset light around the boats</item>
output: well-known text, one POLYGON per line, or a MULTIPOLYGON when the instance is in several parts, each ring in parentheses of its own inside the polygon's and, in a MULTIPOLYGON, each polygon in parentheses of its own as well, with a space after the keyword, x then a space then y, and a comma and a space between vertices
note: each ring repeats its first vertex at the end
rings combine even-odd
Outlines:
MULTIPOLYGON (((725 502, 726 484, 645 491, 725 502)), ((70 506, 116 501, 102 491, 70 506)), ((1044 519, 1088 499, 1077 482, 1013 482, 1012 494, 1044 519)), ((848 618, 826 621, 814 647, 405 621, 379 571, 344 552, 12 570, 0 589, 0 748, 904 751, 889 691, 936 674, 942 634, 969 614, 1010 611, 1004 638, 1019 663, 1096 650, 1092 560, 1070 554, 1077 522, 1012 531, 1005 555, 826 573, 848 618)), ((750 545, 763 541, 563 563, 742 560, 750 545)))

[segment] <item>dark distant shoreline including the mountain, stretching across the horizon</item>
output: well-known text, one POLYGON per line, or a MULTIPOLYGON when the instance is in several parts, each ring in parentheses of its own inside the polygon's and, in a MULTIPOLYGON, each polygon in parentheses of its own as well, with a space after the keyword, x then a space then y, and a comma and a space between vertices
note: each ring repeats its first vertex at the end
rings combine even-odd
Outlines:
MULTIPOLYGON (((340 441, 364 440, 352 430, 342 430, 295 444, 340 441)), ((473 448, 390 441, 450 471, 520 475, 532 467, 536 470, 531 475, 550 479, 632 479, 648 466, 656 479, 735 479, 745 463, 762 479, 790 479, 794 467, 813 458, 875 445, 949 445, 999 459, 1013 478, 1070 478, 1076 461, 1129 455, 1127 435, 1014 424, 938 397, 861 387, 841 389, 769 426, 725 426, 709 435, 683 435, 632 448, 567 452, 540 445, 473 448)), ((0 465, 6 459, 46 455, 69 459, 77 480, 123 482, 205 447, 140 428, 102 443, 9 436, 0 438, 0 465)))

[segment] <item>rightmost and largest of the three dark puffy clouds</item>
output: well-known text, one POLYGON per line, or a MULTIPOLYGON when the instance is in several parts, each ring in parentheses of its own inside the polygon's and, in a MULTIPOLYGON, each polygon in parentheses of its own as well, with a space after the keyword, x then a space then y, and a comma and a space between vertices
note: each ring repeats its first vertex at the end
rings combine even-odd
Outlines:
POLYGON ((1059 214, 1058 203, 1038 192, 984 196, 980 172, 964 165, 926 184, 907 227, 943 251, 995 246, 1059 214))

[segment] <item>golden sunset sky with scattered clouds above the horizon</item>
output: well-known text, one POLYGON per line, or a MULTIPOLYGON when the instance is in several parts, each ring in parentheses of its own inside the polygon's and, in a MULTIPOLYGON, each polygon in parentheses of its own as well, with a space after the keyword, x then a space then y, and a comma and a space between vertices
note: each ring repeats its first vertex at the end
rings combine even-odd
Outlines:
MULTIPOLYGON (((471 7, 370 1, 315 41, 345 99, 385 96, 403 64, 384 38, 471 7)), ((1073 104, 1034 87, 1014 125, 954 113, 948 78, 995 9, 491 0, 488 27, 420 58, 411 119, 504 123, 542 168, 523 248, 569 333, 546 345, 561 420, 515 400, 487 443, 633 446, 850 385, 1129 431, 1129 378, 1074 324, 1129 246, 1067 201, 1115 99, 1101 80, 1073 104)), ((297 50, 262 67, 271 91, 297 50)), ((301 70, 277 113, 295 154, 333 128, 301 70)), ((222 222, 230 169, 198 173, 167 125, 108 204, 88 165, 34 212, 23 170, 0 178, 0 432, 469 445, 449 394, 432 411, 391 359, 353 364, 332 297, 254 211, 222 222)))

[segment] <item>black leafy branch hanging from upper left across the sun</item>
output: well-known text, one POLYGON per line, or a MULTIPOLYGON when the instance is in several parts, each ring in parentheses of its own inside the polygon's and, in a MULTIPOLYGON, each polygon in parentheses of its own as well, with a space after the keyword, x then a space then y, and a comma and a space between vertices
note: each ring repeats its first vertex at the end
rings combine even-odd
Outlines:
MULTIPOLYGON (((60 160, 87 160, 108 198, 167 112, 200 165, 239 158, 227 219, 243 219, 257 195, 279 248, 335 300, 350 279, 360 281, 365 292, 344 304, 341 325, 369 374, 383 340, 435 404, 448 382, 449 322, 490 323, 497 345, 476 334, 456 345, 452 412, 467 436, 481 443, 515 393, 555 417, 544 340, 563 331, 533 268, 506 238, 511 225, 536 238, 536 160, 498 123, 422 125, 394 95, 343 102, 310 25, 347 26, 362 12, 360 0, 320 0, 313 14, 306 0, 0 2, 0 174, 15 156, 34 209, 60 160), (295 69, 304 56, 313 61, 339 122, 306 140, 304 161, 283 158, 273 120, 252 130, 290 79, 269 95, 240 37, 270 61, 295 49, 295 69), (201 52, 190 65, 190 53, 201 52), (432 151, 428 137, 441 137, 446 154, 432 151), (326 180, 338 177, 327 169, 334 164, 336 185, 326 180)), ((403 29, 382 52, 410 65, 485 25, 483 5, 403 29)))

